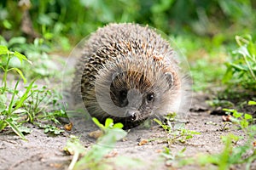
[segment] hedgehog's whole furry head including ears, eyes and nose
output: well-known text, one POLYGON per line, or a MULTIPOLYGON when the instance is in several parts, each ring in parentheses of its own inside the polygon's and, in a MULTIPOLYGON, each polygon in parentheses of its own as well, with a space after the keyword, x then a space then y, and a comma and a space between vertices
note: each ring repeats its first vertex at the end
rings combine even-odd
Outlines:
POLYGON ((173 77, 171 72, 162 68, 162 64, 150 59, 145 61, 145 58, 142 61, 140 58, 127 62, 118 60, 116 63, 118 65, 106 64, 96 76, 98 112, 125 126, 135 127, 148 117, 159 114, 160 108, 168 107, 173 77))

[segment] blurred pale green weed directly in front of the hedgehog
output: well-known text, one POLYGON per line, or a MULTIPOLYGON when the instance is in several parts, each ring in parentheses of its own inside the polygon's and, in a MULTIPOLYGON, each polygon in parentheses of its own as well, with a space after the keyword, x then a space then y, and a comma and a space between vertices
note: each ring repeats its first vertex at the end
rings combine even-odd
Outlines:
POLYGON ((79 139, 71 137, 67 142, 65 150, 73 153, 73 161, 68 169, 109 169, 108 162, 104 158, 119 139, 126 136, 126 132, 122 129, 123 124, 113 123, 113 120, 108 118, 105 125, 101 124, 96 118, 92 118, 93 122, 102 130, 102 136, 93 144, 90 150, 85 151, 80 144, 79 139), (79 156, 85 154, 80 160, 79 156), (79 160, 79 161, 78 161, 79 160))

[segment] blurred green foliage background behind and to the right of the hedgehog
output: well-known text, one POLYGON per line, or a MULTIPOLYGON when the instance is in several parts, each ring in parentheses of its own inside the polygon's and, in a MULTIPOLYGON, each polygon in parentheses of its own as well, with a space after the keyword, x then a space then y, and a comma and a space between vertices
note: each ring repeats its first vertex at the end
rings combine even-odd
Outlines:
POLYGON ((15 43, 36 39, 44 45, 40 50, 67 56, 83 37, 110 22, 153 26, 189 59, 194 89, 209 90, 221 84, 235 36, 255 39, 255 11, 253 0, 2 0, 0 33, 9 48, 26 51, 15 43))

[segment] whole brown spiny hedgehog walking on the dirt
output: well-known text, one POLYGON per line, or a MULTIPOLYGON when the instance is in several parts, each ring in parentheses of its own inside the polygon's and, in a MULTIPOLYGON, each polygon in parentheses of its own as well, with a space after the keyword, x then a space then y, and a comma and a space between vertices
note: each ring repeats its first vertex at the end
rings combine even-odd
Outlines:
POLYGON ((149 26, 109 24, 92 33, 76 65, 72 93, 90 116, 124 128, 188 108, 188 82, 170 43, 149 26))

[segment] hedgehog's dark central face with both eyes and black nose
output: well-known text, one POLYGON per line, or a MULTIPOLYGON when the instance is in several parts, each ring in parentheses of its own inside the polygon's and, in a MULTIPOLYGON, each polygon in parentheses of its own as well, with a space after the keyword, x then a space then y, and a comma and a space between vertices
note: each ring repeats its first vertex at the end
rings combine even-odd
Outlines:
POLYGON ((114 105, 123 108, 128 122, 141 122, 154 114, 154 102, 158 98, 152 83, 134 71, 113 75, 110 97, 114 105))

